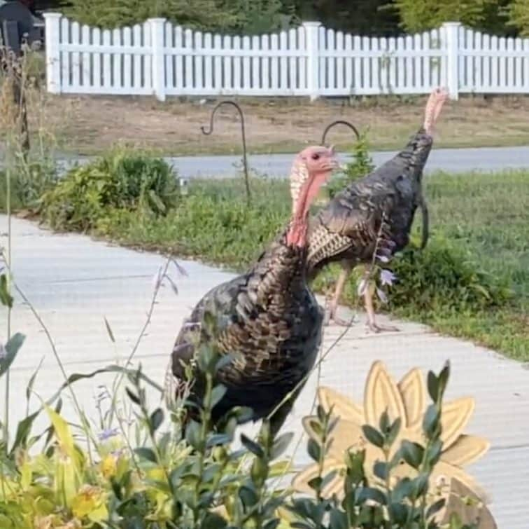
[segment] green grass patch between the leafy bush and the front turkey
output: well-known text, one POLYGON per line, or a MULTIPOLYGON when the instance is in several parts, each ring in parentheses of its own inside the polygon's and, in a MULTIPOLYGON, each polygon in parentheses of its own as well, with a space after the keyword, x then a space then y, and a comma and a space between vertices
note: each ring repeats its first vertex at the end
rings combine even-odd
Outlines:
POLYGON ((287 182, 252 179, 251 189, 248 207, 241 179, 193 182, 189 195, 166 217, 153 221, 114 209, 98 224, 98 233, 243 269, 290 216, 287 182))

